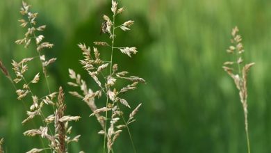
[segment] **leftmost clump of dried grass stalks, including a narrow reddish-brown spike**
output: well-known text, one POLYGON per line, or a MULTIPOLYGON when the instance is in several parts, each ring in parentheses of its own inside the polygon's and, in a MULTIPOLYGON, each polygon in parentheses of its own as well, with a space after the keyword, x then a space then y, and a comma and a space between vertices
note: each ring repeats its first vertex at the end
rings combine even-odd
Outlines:
POLYGON ((38 13, 31 13, 30 8, 30 5, 24 1, 22 2, 20 13, 23 15, 23 19, 19 19, 19 22, 23 28, 27 29, 27 31, 24 34, 24 38, 16 40, 15 43, 18 45, 24 45, 25 48, 28 48, 28 46, 31 45, 31 42, 33 42, 36 47, 37 56, 24 58, 19 62, 13 60, 12 65, 16 74, 16 79, 12 79, 12 77, 10 77, 8 70, 6 70, 6 67, 1 61, 0 68, 3 74, 5 74, 5 76, 8 77, 12 83, 14 81, 13 85, 18 95, 17 99, 22 100, 25 105, 27 105, 25 102, 33 102, 29 110, 26 112, 27 118, 22 122, 22 124, 26 124, 26 122, 30 120, 33 121, 35 116, 39 116, 41 119, 42 125, 40 128, 25 131, 24 135, 40 136, 40 138, 46 138, 48 140, 48 144, 44 145, 42 142, 42 148, 33 148, 28 152, 47 152, 47 150, 51 150, 51 152, 64 153, 67 152, 67 144, 71 142, 77 142, 80 137, 75 136, 74 138, 70 138, 68 136, 72 130, 72 127, 68 126, 68 122, 79 120, 80 117, 64 115, 66 105, 64 103, 63 89, 60 87, 58 92, 51 92, 49 88, 49 76, 47 75, 46 67, 51 63, 54 63, 56 58, 47 60, 42 51, 44 51, 44 49, 52 48, 54 45, 49 42, 43 42, 43 35, 37 35, 41 31, 44 31, 46 26, 36 26, 37 22, 35 22, 35 19, 38 17, 38 13), (39 83, 40 79, 42 79, 40 78, 40 72, 35 74, 35 76, 31 79, 25 77, 25 74, 28 70, 28 63, 34 62, 35 60, 39 61, 38 63, 41 65, 42 74, 44 75, 44 79, 47 82, 48 94, 42 97, 37 96, 40 94, 39 91, 32 90, 32 86, 34 86, 36 83, 39 83), (20 87, 17 88, 15 83, 20 87), (58 95, 57 101, 55 98, 56 95, 58 95), (44 106, 51 107, 54 112, 46 117, 43 111, 44 106))

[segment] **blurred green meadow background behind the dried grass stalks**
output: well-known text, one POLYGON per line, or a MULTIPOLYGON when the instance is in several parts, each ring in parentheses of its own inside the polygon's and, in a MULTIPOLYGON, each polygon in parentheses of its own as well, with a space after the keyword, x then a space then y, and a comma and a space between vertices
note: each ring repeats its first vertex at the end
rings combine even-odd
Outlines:
MULTIPOLYGON (((38 12, 38 24, 46 24, 45 40, 54 43, 47 56, 56 57, 49 67, 51 88, 63 86, 67 114, 81 115, 72 123, 73 135, 81 134, 79 143, 69 152, 102 152, 102 136, 90 109, 69 94, 68 68, 92 79, 81 68, 81 51, 85 42, 107 40, 99 35, 102 15, 110 13, 111 1, 47 0, 29 1, 38 12)), ((15 45, 25 29, 19 27, 22 1, 0 1, 0 58, 11 71, 11 60, 35 55, 33 48, 15 45)), ((131 125, 137 151, 140 152, 247 152, 243 108, 231 78, 222 70, 229 61, 231 29, 238 26, 245 46, 245 62, 255 62, 248 78, 249 135, 252 152, 271 152, 271 1, 268 0, 138 0, 119 1, 125 11, 116 22, 133 19, 131 31, 117 31, 117 46, 136 46, 134 58, 116 54, 122 70, 147 80, 138 90, 127 93, 134 108, 142 107, 131 125)), ((106 54, 107 51, 101 51, 106 54)), ((30 65, 30 76, 36 72, 30 65)), ((14 76, 14 73, 12 73, 14 76)), ((91 84, 92 83, 92 84, 91 84)), ((34 87, 44 95, 46 88, 34 87)), ((5 138, 6 152, 26 152, 42 147, 38 138, 23 136, 33 127, 22 126, 26 117, 15 90, 0 74, 0 137, 5 138)), ((30 102, 29 102, 30 103, 30 102)), ((124 131, 114 147, 115 152, 132 152, 124 131)))

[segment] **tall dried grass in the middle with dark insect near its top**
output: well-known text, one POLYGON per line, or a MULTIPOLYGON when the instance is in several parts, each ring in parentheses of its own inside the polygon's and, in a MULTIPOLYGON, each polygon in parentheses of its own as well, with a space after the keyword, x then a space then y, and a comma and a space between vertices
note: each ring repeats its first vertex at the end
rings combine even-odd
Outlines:
MULTIPOLYGON (((85 81, 81 79, 81 75, 76 74, 74 70, 70 69, 69 77, 74 79, 74 81, 69 82, 68 84, 70 86, 80 87, 82 93, 79 94, 79 92, 76 91, 69 93, 75 97, 79 97, 83 102, 88 104, 92 111, 90 116, 95 115, 99 124, 101 124, 101 131, 99 131, 99 134, 104 136, 104 153, 106 150, 108 153, 113 152, 113 144, 124 128, 127 129, 133 145, 133 150, 136 152, 131 132, 129 130, 129 124, 135 121, 134 116, 141 104, 131 111, 128 120, 125 120, 124 112, 120 105, 131 108, 129 102, 122 98, 122 93, 135 90, 138 83, 145 83, 146 81, 140 77, 127 77, 129 72, 120 71, 119 65, 116 63, 117 61, 113 61, 114 51, 121 51, 130 58, 133 54, 137 54, 138 51, 136 50, 136 47, 115 46, 115 39, 117 38, 115 33, 116 30, 120 29, 122 31, 129 31, 130 26, 133 25, 134 22, 129 20, 121 25, 115 25, 115 18, 124 11, 124 8, 117 8, 117 2, 114 0, 112 1, 111 11, 112 17, 110 18, 107 15, 104 15, 104 23, 101 26, 101 33, 106 33, 108 35, 108 42, 94 42, 95 45, 104 47, 104 50, 110 50, 110 59, 106 61, 102 60, 100 58, 100 52, 96 47, 90 49, 90 47, 87 47, 85 44, 80 43, 78 45, 84 57, 83 60, 80 60, 80 63, 83 65, 83 68, 88 72, 90 77, 92 77, 92 79, 97 83, 99 90, 92 91, 87 87, 85 81), (131 81, 131 83, 117 89, 115 85, 121 80, 131 81), (99 99, 103 95, 106 97, 104 107, 97 108, 95 99, 99 99), (120 119, 122 119, 122 123, 119 121, 120 119)), ((106 51, 105 54, 107 53, 108 52, 106 51)))

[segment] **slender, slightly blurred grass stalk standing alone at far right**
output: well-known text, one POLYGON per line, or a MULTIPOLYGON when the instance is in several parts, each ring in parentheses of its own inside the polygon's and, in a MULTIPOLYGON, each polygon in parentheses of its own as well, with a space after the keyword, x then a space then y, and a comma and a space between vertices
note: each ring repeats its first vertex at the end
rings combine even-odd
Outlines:
POLYGON ((242 44, 242 38, 238 35, 238 27, 236 26, 231 35, 233 39, 231 40, 231 45, 227 52, 236 56, 235 61, 227 61, 224 63, 223 69, 229 74, 236 84, 236 88, 239 90, 240 102, 243 106, 243 111, 245 115, 245 132, 247 136, 247 152, 250 153, 249 144, 249 131, 248 131, 248 121, 247 121, 247 72, 254 63, 244 64, 242 55, 244 53, 244 47, 242 44))

